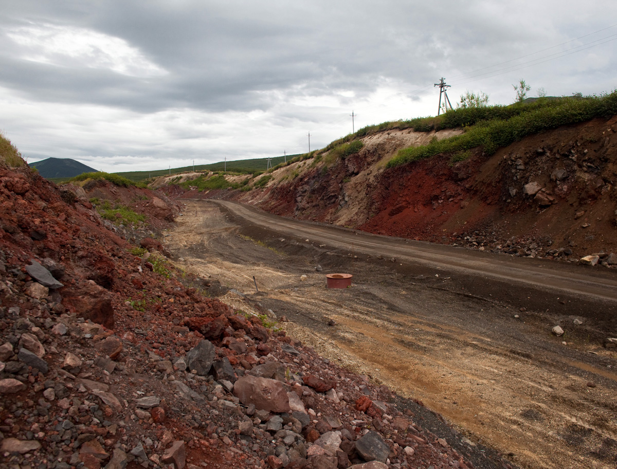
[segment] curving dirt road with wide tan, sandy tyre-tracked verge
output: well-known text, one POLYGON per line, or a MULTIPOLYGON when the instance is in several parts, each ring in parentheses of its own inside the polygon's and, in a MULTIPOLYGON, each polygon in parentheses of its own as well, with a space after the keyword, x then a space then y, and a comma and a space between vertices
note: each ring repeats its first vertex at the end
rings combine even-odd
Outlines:
POLYGON ((241 293, 225 301, 285 315, 289 333, 423 401, 465 444, 526 468, 615 467, 617 358, 602 347, 617 333, 615 272, 186 203, 166 244, 241 293), (352 273, 352 288, 326 289, 326 272, 352 273))

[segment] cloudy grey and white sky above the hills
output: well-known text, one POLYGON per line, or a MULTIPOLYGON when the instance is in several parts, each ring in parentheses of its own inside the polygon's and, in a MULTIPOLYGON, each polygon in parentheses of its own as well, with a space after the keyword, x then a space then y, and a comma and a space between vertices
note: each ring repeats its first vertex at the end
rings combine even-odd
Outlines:
POLYGON ((19 0, 0 9, 0 130, 28 162, 155 170, 317 149, 520 78, 617 87, 615 0, 19 0))

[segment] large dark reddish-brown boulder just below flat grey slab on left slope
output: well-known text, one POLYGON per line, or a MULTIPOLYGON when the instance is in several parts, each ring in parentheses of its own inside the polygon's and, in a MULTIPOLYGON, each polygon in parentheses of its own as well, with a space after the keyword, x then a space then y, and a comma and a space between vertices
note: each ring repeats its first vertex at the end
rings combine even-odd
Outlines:
POLYGON ((107 290, 90 281, 83 288, 63 288, 62 304, 78 318, 114 328, 114 306, 107 290))

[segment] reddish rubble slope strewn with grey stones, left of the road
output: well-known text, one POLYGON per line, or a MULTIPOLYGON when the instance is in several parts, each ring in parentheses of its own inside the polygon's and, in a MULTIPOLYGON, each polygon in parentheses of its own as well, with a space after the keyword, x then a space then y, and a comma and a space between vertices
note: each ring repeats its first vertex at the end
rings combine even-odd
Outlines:
POLYGON ((4 169, 0 200, 0 468, 474 467, 80 191, 4 169))

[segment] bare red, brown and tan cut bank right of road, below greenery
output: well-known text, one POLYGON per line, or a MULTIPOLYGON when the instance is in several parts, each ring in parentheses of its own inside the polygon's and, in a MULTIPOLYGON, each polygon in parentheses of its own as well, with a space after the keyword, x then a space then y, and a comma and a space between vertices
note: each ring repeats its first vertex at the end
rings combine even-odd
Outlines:
MULTIPOLYGON (((345 159, 305 160, 272 173, 249 192, 191 191, 287 217, 382 235, 462 244, 507 254, 613 265, 617 252, 617 117, 534 135, 492 156, 480 149, 453 162, 440 155, 395 168, 401 148, 455 130, 389 130, 362 138, 345 159)), ((176 187, 174 194, 178 195, 176 187)))

